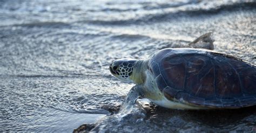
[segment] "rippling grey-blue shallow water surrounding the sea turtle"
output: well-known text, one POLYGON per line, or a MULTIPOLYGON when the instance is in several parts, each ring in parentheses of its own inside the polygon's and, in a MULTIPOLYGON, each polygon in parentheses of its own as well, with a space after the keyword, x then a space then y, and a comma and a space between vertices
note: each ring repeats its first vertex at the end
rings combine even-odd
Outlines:
MULTIPOLYGON (((215 51, 256 64, 255 6, 253 1, 0 1, 0 131, 70 132, 95 123, 110 114, 100 107, 120 105, 133 86, 111 76, 113 60, 188 47, 208 32, 215 51)), ((255 108, 144 108, 137 126, 131 119, 107 130, 256 130, 255 108)))

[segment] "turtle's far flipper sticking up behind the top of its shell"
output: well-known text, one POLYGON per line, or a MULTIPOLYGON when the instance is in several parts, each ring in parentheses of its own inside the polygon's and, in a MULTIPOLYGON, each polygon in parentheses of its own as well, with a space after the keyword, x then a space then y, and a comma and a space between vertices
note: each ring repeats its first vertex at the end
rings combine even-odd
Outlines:
POLYGON ((213 50, 214 49, 213 42, 214 40, 212 39, 212 32, 210 32, 210 33, 201 35, 199 38, 190 42, 188 45, 191 48, 203 48, 203 49, 213 50))

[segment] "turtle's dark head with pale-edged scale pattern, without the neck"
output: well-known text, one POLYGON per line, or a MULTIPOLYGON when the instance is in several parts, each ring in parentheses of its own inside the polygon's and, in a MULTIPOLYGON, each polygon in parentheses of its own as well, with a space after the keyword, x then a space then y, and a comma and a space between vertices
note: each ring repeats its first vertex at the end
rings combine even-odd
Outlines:
POLYGON ((137 60, 130 58, 121 58, 113 61, 109 66, 109 70, 114 77, 121 80, 124 83, 134 83, 131 79, 133 75, 134 65, 137 60))

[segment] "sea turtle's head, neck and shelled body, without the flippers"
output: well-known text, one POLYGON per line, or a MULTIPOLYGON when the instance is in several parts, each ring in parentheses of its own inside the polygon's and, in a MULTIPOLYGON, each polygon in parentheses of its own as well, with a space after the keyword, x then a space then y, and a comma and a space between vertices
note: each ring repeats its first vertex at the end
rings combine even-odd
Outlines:
POLYGON ((112 75, 154 104, 178 109, 256 105, 256 66, 206 49, 166 48, 148 60, 122 58, 112 75))

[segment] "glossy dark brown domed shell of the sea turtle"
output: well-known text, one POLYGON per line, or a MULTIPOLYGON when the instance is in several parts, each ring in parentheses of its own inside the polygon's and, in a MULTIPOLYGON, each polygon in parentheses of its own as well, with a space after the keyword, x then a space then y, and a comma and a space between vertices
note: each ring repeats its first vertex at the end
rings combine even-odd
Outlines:
POLYGON ((148 69, 169 100, 208 108, 256 105, 256 67, 237 57, 203 49, 163 49, 148 69))

